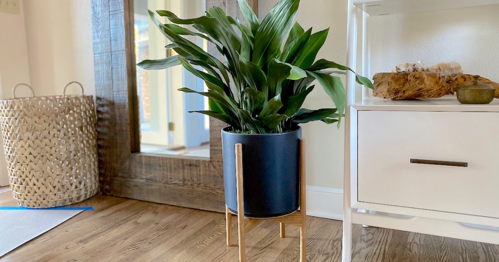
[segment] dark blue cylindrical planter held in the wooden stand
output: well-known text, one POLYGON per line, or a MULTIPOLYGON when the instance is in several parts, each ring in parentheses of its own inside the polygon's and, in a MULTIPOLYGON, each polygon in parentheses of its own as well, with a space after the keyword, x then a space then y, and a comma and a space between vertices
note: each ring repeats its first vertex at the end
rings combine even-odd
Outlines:
POLYGON ((237 134, 222 129, 225 202, 237 214, 235 145, 243 145, 245 216, 273 218, 299 207, 301 128, 282 134, 237 134))

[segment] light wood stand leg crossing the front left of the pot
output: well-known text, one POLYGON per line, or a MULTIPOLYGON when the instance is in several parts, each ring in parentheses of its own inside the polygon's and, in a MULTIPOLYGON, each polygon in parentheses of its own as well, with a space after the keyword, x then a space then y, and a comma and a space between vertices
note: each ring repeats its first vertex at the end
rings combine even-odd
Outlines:
POLYGON ((236 184, 238 198, 239 261, 245 262, 245 202, 243 190, 243 147, 241 144, 236 144, 236 184))

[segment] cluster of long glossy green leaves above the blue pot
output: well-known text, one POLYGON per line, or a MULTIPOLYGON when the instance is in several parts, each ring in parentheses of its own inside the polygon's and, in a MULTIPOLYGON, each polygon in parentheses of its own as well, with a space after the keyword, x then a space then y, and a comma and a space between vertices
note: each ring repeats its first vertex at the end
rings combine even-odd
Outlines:
MULTIPOLYGON (((329 29, 312 33, 312 28, 305 31, 294 22, 299 0, 279 1, 262 21, 246 0, 238 2, 246 25, 219 7, 212 7, 204 16, 192 19, 181 19, 167 10, 156 11, 168 18, 171 23, 167 24, 149 11, 156 26, 172 42, 166 48, 172 48, 177 55, 144 60, 138 65, 145 69, 184 66, 202 78, 208 87, 206 92, 187 87, 179 89, 209 98, 210 110, 193 112, 220 119, 241 133, 282 133, 310 121, 338 123, 339 127, 345 110, 345 88, 337 74, 352 69, 326 59, 316 60, 329 29), (198 32, 182 25, 192 25, 198 32), (217 48, 224 61, 183 35, 205 38, 217 48), (330 68, 339 71, 328 71, 330 68), (336 108, 302 108, 315 87, 311 85, 314 80, 336 108), (230 87, 231 81, 234 89, 230 87)), ((356 74, 356 80, 374 89, 368 78, 356 74)))

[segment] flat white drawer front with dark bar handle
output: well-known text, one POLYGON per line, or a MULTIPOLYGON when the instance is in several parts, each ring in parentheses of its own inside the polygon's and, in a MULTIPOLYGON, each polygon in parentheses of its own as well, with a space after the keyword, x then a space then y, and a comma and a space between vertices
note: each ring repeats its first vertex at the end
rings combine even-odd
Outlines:
POLYGON ((358 111, 358 201, 499 218, 498 133, 499 113, 358 111))

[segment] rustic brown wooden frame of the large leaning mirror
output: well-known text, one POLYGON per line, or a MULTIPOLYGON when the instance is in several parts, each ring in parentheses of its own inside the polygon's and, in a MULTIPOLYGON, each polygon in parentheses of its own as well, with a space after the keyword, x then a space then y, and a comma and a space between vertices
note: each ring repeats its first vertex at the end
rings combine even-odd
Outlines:
MULTIPOLYGON (((248 0, 255 13, 258 0, 248 0)), ((225 211, 221 129, 210 118, 209 159, 140 152, 133 0, 92 0, 99 173, 104 195, 225 211)), ((237 0, 206 0, 239 17, 237 0)), ((215 48, 209 52, 220 56, 215 48)))

